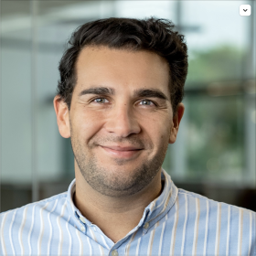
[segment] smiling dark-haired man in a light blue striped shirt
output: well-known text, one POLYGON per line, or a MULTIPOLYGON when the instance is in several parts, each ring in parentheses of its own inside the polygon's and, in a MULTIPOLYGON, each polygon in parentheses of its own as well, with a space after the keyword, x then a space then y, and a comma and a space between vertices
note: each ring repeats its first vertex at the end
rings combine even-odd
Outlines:
POLYGON ((54 99, 67 193, 1 215, 3 255, 255 255, 255 213, 177 189, 161 168, 184 105, 172 23, 109 18, 72 35, 54 99))

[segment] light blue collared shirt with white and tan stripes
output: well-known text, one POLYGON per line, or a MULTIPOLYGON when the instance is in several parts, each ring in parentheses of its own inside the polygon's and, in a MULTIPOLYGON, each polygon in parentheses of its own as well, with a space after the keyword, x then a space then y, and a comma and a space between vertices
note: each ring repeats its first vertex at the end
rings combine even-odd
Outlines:
POLYGON ((177 189, 164 170, 162 182, 114 243, 75 207, 73 180, 66 193, 0 215, 0 255, 256 255, 255 212, 177 189))

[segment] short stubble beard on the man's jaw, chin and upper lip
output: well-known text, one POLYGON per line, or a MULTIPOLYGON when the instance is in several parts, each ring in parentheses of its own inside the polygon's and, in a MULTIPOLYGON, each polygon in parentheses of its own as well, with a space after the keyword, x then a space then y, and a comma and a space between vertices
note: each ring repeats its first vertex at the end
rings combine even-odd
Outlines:
MULTIPOLYGON (((95 154, 86 155, 84 145, 72 133, 72 129, 70 139, 73 154, 80 168, 81 175, 94 190, 108 197, 132 196, 149 185, 163 165, 168 147, 168 144, 165 144, 152 159, 142 160, 142 165, 136 167, 133 172, 129 171, 128 176, 122 170, 122 168, 126 168, 129 165, 127 160, 116 159, 116 166, 112 169, 110 169, 111 167, 107 168, 107 166, 99 164, 95 154)), ((113 142, 113 140, 108 139, 109 141, 113 142)), ((129 141, 130 144, 133 144, 135 141, 138 142, 136 138, 129 139, 129 141)), ((91 153, 92 149, 96 146, 99 145, 89 145, 91 153)))

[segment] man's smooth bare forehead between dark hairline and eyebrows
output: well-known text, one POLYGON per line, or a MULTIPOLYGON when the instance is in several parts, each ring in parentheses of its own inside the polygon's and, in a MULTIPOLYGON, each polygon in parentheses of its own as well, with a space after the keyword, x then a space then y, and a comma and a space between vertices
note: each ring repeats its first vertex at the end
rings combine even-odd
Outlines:
POLYGON ((76 63, 77 90, 93 85, 116 90, 155 88, 168 92, 167 61, 145 50, 86 47, 76 63))

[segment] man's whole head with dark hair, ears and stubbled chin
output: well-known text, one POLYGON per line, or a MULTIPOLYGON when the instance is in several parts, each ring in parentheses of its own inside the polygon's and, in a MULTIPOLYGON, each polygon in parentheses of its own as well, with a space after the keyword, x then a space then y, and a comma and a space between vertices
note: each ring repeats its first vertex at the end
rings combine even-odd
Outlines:
POLYGON ((59 133, 71 137, 76 176, 102 195, 147 187, 176 141, 187 48, 171 28, 154 19, 96 21, 73 34, 61 59, 54 100, 59 133))

